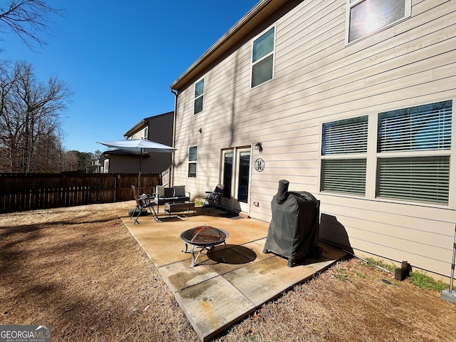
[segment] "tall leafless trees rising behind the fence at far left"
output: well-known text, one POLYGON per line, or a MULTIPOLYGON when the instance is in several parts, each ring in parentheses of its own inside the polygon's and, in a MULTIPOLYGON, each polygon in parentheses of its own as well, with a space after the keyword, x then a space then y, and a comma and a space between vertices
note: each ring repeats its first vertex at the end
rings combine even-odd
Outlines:
POLYGON ((4 172, 51 172, 52 164, 57 170, 60 119, 71 90, 56 77, 38 81, 24 61, 7 71, 0 74, 0 148, 3 168, 9 169, 4 172))

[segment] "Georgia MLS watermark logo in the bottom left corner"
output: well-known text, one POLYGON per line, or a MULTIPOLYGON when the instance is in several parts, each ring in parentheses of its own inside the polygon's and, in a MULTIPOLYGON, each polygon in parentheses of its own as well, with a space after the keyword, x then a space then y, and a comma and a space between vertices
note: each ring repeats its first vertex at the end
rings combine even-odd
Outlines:
POLYGON ((51 326, 0 326, 0 342, 51 342, 51 326))

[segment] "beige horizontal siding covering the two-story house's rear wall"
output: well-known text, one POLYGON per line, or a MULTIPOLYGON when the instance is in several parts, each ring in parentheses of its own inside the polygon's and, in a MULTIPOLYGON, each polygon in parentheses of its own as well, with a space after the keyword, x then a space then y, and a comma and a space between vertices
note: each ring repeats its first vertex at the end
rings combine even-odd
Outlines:
MULTIPOLYGON (((175 184, 202 197, 219 182, 222 149, 259 141, 263 153, 252 149, 251 160, 261 157, 266 168, 252 170, 250 203, 259 207, 251 205, 251 217, 270 221, 271 199, 279 180, 286 179, 290 190, 321 200, 323 239, 448 275, 455 195, 448 206, 375 199, 372 174, 365 198, 318 191, 321 125, 333 120, 453 100, 451 160, 456 160, 456 1, 413 0, 410 19, 348 46, 345 0, 292 2, 291 11, 265 22, 198 76, 204 76, 202 113, 192 115, 194 83, 180 89, 175 184), (274 79, 250 89, 252 38, 271 25, 276 25, 274 79), (195 180, 187 178, 190 145, 198 145, 195 180)), ((450 194, 456 193, 455 166, 450 194)))

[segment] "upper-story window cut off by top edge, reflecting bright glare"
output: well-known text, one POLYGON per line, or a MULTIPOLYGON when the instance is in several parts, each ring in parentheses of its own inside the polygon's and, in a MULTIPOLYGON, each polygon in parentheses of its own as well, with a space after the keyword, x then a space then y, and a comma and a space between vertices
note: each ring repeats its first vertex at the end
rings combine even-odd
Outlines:
POLYGON ((410 16, 411 0, 347 0, 347 43, 410 16))

